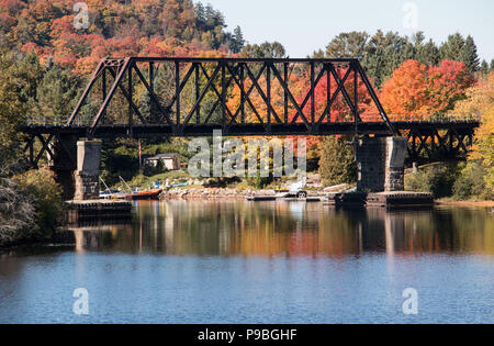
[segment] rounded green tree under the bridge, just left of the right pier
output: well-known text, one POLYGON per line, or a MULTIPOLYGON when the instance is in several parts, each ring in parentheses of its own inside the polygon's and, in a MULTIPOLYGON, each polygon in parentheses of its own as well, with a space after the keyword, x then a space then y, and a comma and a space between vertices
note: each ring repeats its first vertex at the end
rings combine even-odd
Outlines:
POLYGON ((327 137, 321 143, 319 175, 325 186, 352 183, 357 179, 353 146, 345 137, 327 137))

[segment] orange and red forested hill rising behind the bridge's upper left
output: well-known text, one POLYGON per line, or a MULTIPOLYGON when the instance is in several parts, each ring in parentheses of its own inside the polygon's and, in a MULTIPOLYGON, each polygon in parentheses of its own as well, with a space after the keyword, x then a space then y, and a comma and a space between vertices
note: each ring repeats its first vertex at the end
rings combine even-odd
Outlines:
POLYGON ((225 32, 218 11, 191 0, 87 0, 87 29, 75 27, 74 3, 0 0, 0 41, 83 76, 105 57, 226 53, 240 40, 225 32))

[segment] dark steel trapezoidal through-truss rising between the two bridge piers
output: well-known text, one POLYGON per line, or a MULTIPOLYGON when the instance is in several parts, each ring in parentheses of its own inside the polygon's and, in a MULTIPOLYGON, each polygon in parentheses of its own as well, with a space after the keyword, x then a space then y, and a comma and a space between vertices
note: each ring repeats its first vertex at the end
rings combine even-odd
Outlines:
POLYGON ((385 124, 386 133, 398 134, 358 59, 104 59, 66 125, 78 123, 89 101, 98 108, 87 124, 87 135, 94 136, 119 93, 120 105, 127 112, 120 125, 127 127, 128 135, 139 125, 172 136, 206 135, 218 126, 225 134, 236 135, 360 133, 370 130, 360 126, 366 120, 359 110, 359 89, 377 110, 374 122, 385 124), (307 77, 307 91, 302 92, 302 98, 292 74, 307 77), (161 82, 167 79, 171 94, 158 92, 159 78, 161 82), (137 89, 148 97, 146 114, 137 100, 137 89), (325 94, 323 111, 316 109, 316 90, 325 94), (92 96, 94 91, 99 94, 92 96), (234 91, 238 94, 235 105, 231 101, 234 91), (332 114, 337 102, 346 108, 345 116, 339 119, 332 114))

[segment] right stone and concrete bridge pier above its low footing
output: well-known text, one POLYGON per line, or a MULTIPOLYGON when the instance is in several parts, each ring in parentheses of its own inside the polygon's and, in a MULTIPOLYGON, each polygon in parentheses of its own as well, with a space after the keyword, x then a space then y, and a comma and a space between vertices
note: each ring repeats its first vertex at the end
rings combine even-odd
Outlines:
POLYGON ((406 138, 356 138, 357 190, 362 192, 404 191, 406 138))

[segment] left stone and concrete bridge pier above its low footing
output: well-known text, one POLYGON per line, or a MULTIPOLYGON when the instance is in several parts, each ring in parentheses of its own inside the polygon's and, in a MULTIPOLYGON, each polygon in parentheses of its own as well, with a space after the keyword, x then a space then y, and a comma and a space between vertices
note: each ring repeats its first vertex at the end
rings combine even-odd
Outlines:
POLYGON ((100 141, 77 142, 77 170, 74 200, 97 200, 100 196, 100 141))

